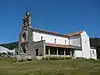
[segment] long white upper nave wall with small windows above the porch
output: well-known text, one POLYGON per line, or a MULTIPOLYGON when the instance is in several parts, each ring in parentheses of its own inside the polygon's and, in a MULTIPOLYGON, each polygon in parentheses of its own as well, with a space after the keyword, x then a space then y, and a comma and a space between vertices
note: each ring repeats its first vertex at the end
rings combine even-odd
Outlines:
POLYGON ((53 43, 56 39, 56 44, 62 44, 62 45, 68 45, 69 40, 67 37, 61 37, 61 36, 55 36, 55 35, 49 35, 39 32, 33 32, 33 41, 40 41, 41 36, 43 36, 43 40, 46 40, 46 43, 53 43), (66 43, 65 43, 66 40, 66 43))

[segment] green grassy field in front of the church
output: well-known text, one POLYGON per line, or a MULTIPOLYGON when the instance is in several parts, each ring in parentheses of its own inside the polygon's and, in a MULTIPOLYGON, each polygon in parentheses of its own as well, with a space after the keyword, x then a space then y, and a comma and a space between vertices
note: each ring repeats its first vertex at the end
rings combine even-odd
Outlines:
POLYGON ((0 75, 100 75, 100 60, 0 60, 0 75))

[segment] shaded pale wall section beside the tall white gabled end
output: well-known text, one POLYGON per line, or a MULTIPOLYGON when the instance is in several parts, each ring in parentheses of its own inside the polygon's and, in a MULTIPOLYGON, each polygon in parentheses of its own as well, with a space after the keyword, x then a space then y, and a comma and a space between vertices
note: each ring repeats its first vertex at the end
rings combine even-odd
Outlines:
POLYGON ((80 36, 70 37, 70 45, 81 47, 81 37, 80 36))

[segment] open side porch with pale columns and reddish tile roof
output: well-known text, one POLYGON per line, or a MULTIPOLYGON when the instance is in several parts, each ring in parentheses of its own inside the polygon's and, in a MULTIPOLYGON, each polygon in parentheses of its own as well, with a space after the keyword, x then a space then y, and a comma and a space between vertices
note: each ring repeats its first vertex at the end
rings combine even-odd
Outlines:
POLYGON ((70 45, 46 44, 45 56, 74 57, 74 50, 80 49, 70 45))

